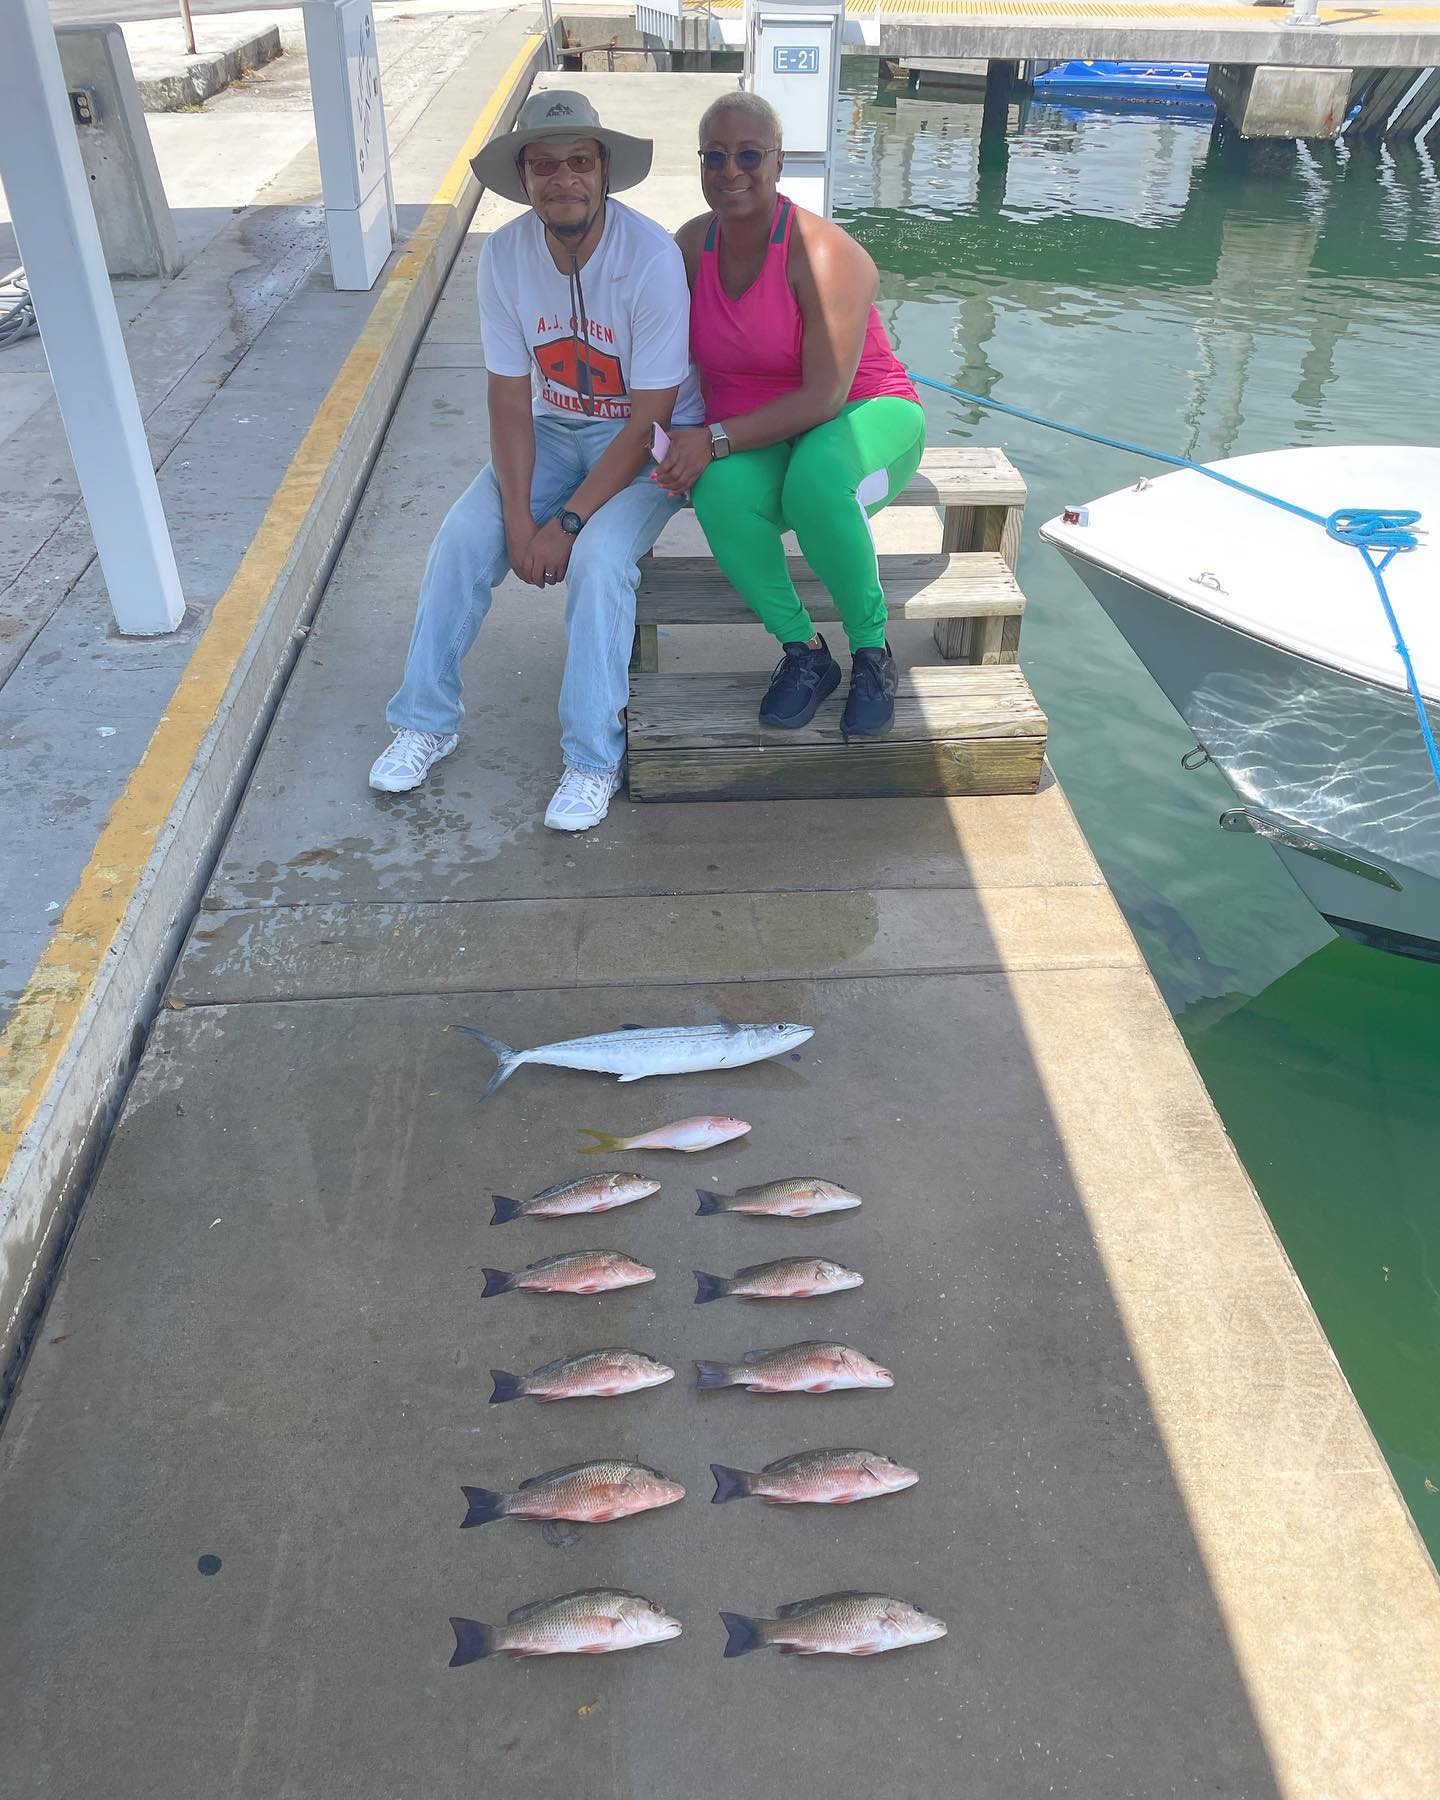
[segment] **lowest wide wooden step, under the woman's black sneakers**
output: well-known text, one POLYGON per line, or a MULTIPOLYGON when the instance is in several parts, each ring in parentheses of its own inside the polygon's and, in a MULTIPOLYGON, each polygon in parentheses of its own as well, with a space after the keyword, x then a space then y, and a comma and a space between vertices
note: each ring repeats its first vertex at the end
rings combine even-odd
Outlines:
POLYGON ((641 675, 630 682, 630 799, 860 799, 1033 794, 1046 716, 1015 664, 914 668, 895 729, 841 736, 844 682, 801 731, 758 720, 769 675, 641 675))

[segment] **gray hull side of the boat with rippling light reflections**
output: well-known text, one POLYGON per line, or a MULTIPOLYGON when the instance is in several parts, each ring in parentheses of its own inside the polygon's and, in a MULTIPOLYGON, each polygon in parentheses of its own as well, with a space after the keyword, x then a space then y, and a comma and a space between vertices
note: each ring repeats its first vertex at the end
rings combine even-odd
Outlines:
POLYGON ((1055 547, 1224 774, 1224 823, 1267 837, 1336 931, 1440 961, 1440 790, 1408 695, 1055 547))

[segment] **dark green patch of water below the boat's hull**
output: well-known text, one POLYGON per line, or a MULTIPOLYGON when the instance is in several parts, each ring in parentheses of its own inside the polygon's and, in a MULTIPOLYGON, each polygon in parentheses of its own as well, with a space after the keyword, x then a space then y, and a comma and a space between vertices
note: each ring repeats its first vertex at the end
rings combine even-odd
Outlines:
POLYGON ((1181 1021, 1433 1552, 1438 1012, 1440 970, 1337 940, 1210 1030, 1181 1021))

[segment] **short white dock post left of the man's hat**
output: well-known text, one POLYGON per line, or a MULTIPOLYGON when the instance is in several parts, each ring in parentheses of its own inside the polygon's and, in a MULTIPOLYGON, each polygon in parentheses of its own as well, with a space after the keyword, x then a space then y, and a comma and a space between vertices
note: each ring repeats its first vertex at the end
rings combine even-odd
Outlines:
POLYGON ((373 288, 394 241, 394 189, 371 0, 304 0, 329 275, 373 288))

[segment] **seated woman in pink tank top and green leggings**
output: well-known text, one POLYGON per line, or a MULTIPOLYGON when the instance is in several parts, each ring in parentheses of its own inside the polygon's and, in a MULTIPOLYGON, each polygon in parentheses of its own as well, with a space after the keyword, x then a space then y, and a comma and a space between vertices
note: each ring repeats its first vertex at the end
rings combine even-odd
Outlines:
POLYGON ((841 729, 884 736, 898 675, 869 518, 918 468, 925 414, 875 311, 875 263, 778 193, 774 108, 718 99, 700 121, 700 166, 711 211, 677 241, 707 423, 673 432, 657 479, 691 491, 715 560, 785 650, 761 725, 806 725, 841 680, 790 578, 790 529, 850 641, 841 729))

